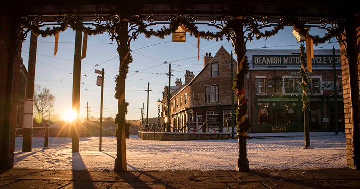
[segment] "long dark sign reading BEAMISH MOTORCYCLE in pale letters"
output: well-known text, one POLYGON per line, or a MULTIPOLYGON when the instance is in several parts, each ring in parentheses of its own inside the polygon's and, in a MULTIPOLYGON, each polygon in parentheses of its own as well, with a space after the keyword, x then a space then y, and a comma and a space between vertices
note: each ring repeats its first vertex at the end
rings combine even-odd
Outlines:
MULTIPOLYGON (((254 65, 267 66, 294 66, 301 65, 300 56, 297 55, 253 55, 254 65)), ((335 64, 340 65, 340 55, 335 56, 335 64)), ((314 55, 312 65, 333 65, 332 55, 314 55)))

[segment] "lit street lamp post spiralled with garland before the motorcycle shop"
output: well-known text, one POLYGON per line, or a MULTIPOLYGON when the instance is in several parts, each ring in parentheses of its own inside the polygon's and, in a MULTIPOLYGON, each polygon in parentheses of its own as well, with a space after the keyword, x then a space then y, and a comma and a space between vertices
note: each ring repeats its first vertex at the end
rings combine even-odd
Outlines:
POLYGON ((306 72, 305 72, 305 47, 304 47, 304 41, 305 38, 303 36, 300 35, 299 32, 297 32, 296 30, 293 30, 292 33, 294 34, 296 40, 301 44, 300 47, 300 60, 301 60, 301 68, 300 68, 300 73, 302 76, 302 83, 301 83, 301 87, 302 87, 302 102, 303 102, 303 107, 302 107, 302 111, 304 112, 304 133, 305 133, 305 145, 304 147, 302 147, 302 149, 308 149, 308 148, 312 148, 310 146, 310 127, 309 127, 309 111, 310 111, 310 105, 309 105, 309 101, 307 100, 307 76, 306 76, 306 72))

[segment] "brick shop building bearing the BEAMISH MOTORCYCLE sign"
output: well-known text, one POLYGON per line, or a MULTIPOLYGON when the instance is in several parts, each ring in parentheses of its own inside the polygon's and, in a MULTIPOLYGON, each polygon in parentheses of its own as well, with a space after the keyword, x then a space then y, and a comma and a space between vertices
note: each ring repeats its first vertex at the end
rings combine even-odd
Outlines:
MULTIPOLYGON (((304 130, 299 50, 248 50, 245 91, 252 132, 304 130)), ((335 131, 332 50, 314 50, 313 73, 308 77, 310 131, 335 131)), ((340 51, 335 51, 339 131, 344 132, 344 104, 340 51)))

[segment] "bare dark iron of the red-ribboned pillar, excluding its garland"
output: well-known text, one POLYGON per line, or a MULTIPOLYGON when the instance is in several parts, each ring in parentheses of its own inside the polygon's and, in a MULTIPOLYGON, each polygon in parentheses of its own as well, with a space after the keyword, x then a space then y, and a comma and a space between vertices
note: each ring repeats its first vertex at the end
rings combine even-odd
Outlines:
MULTIPOLYGON (((235 30, 235 54, 237 56, 237 71, 240 71, 245 65, 245 53, 246 47, 244 43, 244 31, 243 31, 244 20, 243 17, 234 18, 234 30, 235 30)), ((245 76, 240 76, 245 77, 245 76)), ((244 83, 241 83, 237 91, 237 104, 246 103, 245 99, 245 88, 244 83)), ((245 121, 245 115, 242 116, 239 120, 239 123, 245 121)), ((237 159, 236 171, 238 172, 248 172, 249 169, 249 160, 247 159, 246 153, 246 136, 238 135, 239 141, 239 158, 237 159)))

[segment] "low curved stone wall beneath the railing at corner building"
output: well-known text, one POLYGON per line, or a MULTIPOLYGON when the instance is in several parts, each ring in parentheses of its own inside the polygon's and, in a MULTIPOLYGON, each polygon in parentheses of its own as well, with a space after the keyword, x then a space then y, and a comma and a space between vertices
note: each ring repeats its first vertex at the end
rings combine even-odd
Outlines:
POLYGON ((230 133, 172 133, 172 132, 144 132, 139 131, 139 138, 143 140, 228 140, 230 133))

